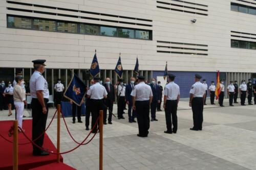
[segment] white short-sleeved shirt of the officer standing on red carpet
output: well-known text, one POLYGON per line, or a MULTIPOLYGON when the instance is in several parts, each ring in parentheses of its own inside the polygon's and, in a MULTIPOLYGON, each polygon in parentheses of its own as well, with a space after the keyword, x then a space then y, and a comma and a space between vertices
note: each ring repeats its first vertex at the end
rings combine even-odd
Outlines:
POLYGON ((29 87, 30 87, 30 94, 32 98, 36 98, 36 91, 42 90, 42 94, 44 95, 45 99, 49 99, 49 89, 48 89, 48 83, 44 76, 39 71, 34 71, 33 75, 30 78, 29 81, 29 87))

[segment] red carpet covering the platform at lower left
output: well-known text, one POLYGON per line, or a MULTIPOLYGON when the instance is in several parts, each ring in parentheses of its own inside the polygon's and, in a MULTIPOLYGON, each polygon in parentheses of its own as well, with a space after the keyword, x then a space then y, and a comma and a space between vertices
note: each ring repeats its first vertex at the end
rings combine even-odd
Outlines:
MULTIPOLYGON (((13 121, 1 121, 0 122, 0 134, 5 136, 7 139, 12 140, 12 137, 8 136, 8 131, 13 125, 13 121)), ((25 120, 23 122, 23 129, 27 136, 32 136, 32 119, 25 120)), ((18 133, 18 142, 25 143, 28 140, 22 133, 18 133)), ((11 170, 12 169, 12 147, 13 144, 9 143, 2 137, 0 137, 0 170, 11 170)), ((45 134, 44 148, 49 151, 56 152, 56 148, 52 143, 51 139, 45 134)), ((56 162, 56 155, 50 154, 49 156, 33 156, 32 155, 32 144, 19 145, 18 147, 18 169, 27 170, 34 167, 50 164, 56 162)), ((60 157, 60 161, 63 162, 63 158, 60 157)), ((50 168, 51 169, 51 168, 50 168)))

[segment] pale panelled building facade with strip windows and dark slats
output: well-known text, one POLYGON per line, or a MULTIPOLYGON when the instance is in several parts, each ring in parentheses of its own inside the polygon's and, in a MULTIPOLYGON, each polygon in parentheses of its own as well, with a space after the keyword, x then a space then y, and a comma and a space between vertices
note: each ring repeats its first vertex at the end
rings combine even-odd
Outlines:
MULTIPOLYGON (((46 59, 44 74, 53 93, 57 78, 67 86, 74 72, 84 79, 97 50, 100 76, 133 76, 136 58, 146 79, 177 74, 182 98, 193 74, 216 80, 256 78, 255 0, 11 0, 0 1, 0 79, 12 81, 32 60, 46 59)), ((163 84, 163 83, 162 83, 163 84)))

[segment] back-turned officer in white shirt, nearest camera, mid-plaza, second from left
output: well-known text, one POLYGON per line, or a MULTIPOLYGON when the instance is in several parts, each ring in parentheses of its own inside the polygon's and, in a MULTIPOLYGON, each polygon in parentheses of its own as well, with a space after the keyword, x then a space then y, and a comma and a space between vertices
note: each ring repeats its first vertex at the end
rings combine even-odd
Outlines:
POLYGON ((153 92, 149 85, 145 84, 145 78, 138 76, 138 84, 134 86, 131 93, 133 110, 136 110, 139 127, 139 137, 147 137, 150 129, 150 104, 153 99, 153 92))

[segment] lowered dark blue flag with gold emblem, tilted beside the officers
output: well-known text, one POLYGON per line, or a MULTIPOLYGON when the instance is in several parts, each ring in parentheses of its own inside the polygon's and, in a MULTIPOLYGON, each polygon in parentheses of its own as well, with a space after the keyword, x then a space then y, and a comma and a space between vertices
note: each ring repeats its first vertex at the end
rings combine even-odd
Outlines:
POLYGON ((76 105, 81 106, 82 99, 85 95, 86 85, 84 85, 82 80, 74 74, 67 90, 64 93, 65 98, 71 100, 76 105))

